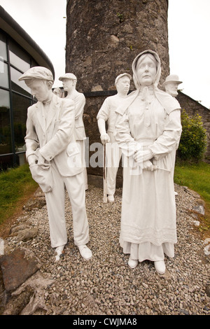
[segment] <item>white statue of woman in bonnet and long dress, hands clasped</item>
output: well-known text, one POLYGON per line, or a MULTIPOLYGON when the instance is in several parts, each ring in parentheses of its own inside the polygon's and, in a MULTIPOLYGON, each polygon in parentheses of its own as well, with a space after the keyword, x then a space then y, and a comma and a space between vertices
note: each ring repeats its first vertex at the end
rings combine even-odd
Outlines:
POLYGON ((128 265, 155 262, 165 273, 165 254, 174 257, 176 204, 174 153, 181 136, 181 109, 174 97, 158 89, 158 54, 141 52, 132 64, 132 92, 116 110, 116 140, 127 165, 123 168, 120 246, 128 265), (136 165, 139 172, 132 171, 136 165))

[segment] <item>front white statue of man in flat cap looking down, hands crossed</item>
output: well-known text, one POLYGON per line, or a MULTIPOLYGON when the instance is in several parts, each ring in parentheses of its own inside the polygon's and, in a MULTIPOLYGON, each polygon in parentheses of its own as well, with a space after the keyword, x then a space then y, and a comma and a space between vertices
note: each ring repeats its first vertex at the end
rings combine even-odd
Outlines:
POLYGON ((83 166, 74 138, 74 108, 71 99, 57 97, 52 92, 53 76, 50 70, 35 66, 19 80, 25 80, 38 102, 29 106, 26 157, 31 174, 45 193, 50 225, 50 241, 62 254, 67 243, 65 221, 65 187, 71 200, 73 239, 80 255, 92 257, 87 248, 89 225, 85 208, 83 166))

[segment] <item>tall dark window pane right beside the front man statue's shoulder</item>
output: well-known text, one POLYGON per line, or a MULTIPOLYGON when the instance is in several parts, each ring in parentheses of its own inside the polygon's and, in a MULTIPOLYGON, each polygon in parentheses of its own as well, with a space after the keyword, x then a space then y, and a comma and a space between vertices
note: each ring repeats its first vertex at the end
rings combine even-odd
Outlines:
POLYGON ((13 93, 13 122, 16 152, 20 152, 25 148, 27 109, 29 106, 31 106, 30 99, 13 93))

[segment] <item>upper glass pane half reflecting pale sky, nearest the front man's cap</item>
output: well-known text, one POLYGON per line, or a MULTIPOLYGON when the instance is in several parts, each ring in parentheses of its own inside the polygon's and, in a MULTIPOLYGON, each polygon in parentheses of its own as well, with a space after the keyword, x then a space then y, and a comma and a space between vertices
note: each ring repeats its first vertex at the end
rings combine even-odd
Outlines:
POLYGON ((25 72, 30 69, 30 57, 13 41, 9 41, 10 64, 13 64, 21 71, 25 72))

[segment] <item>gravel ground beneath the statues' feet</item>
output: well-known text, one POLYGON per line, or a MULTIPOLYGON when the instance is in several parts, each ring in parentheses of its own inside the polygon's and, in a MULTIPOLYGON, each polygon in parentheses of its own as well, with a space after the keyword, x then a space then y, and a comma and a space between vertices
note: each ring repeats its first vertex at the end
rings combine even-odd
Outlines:
POLYGON ((175 257, 165 258, 167 271, 155 272, 153 262, 144 261, 135 269, 127 265, 118 237, 122 189, 114 203, 103 203, 103 191, 89 186, 86 192, 92 259, 83 260, 73 244, 71 204, 66 196, 66 223, 69 241, 59 262, 50 247, 46 207, 25 212, 18 223, 30 223, 38 235, 30 241, 8 238, 8 246, 24 246, 41 262, 43 278, 52 283, 42 290, 45 309, 36 314, 62 315, 209 315, 209 256, 204 241, 195 230, 189 209, 195 195, 176 186, 178 243, 175 257))

